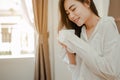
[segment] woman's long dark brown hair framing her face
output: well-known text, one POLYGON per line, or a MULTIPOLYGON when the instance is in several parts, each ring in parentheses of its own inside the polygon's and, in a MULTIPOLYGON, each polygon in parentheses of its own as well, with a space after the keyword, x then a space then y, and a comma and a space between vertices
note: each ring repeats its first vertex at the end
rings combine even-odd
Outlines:
MULTIPOLYGON (((59 10, 60 10, 60 17, 61 18, 60 18, 58 30, 61 30, 63 28, 63 26, 65 26, 67 29, 75 29, 75 34, 78 37, 80 37, 81 28, 84 24, 81 27, 78 27, 75 23, 73 23, 72 21, 70 21, 68 19, 67 14, 66 14, 65 9, 64 9, 64 1, 65 0, 59 0, 59 10)), ((91 11, 95 15, 99 16, 93 0, 90 0, 90 3, 88 0, 77 0, 77 1, 80 1, 81 3, 90 4, 91 11)))

